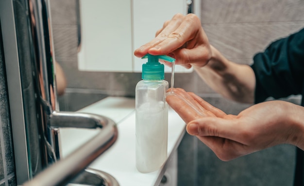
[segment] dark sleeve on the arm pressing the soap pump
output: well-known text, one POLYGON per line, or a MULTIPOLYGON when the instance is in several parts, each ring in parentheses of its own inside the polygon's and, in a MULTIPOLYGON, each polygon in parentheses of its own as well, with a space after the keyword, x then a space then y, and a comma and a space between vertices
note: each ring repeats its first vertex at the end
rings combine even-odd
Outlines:
POLYGON ((304 78, 304 29, 270 44, 253 57, 254 102, 301 94, 304 78))

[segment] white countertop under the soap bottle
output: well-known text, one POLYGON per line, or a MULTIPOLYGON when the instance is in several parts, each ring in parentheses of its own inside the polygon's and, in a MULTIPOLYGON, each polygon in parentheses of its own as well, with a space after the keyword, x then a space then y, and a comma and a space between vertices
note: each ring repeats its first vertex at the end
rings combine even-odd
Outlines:
MULTIPOLYGON (((118 139, 89 166, 90 168, 111 174, 117 179, 120 186, 158 186, 166 171, 167 163, 159 170, 150 173, 141 173, 135 167, 134 98, 107 97, 79 112, 107 116, 118 125, 118 139)), ((179 115, 169 108, 167 162, 182 140, 185 126, 185 122, 179 115)), ((99 129, 61 128, 62 156, 67 156, 98 132, 99 129)))

